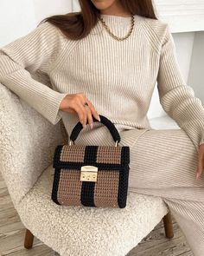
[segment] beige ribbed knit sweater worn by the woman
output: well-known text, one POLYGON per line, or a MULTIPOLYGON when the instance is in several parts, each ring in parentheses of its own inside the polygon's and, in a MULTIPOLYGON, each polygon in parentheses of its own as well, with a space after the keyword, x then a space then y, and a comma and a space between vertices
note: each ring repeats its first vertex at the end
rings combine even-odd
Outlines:
MULTIPOLYGON (((130 30, 130 16, 102 17, 117 36, 130 30)), ((68 135, 79 117, 59 110, 65 95, 83 92, 100 115, 124 128, 150 128, 146 114, 157 84, 163 109, 198 148, 204 143, 204 108, 184 82, 169 25, 134 17, 131 36, 121 42, 100 22, 78 41, 42 23, 0 49, 0 82, 53 124, 62 117, 68 135), (51 88, 36 81, 35 72, 47 75, 51 88)))

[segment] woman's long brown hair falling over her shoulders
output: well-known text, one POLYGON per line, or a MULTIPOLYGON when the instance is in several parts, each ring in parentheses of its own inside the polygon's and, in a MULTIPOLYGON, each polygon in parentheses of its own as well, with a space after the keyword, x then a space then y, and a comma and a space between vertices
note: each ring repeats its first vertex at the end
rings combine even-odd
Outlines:
MULTIPOLYGON (((131 15, 157 19, 152 0, 119 0, 119 2, 124 10, 131 13, 131 15)), ((52 23, 65 36, 73 40, 79 40, 87 36, 99 21, 100 10, 95 7, 91 0, 79 0, 79 3, 80 12, 48 16, 41 23, 52 23)))

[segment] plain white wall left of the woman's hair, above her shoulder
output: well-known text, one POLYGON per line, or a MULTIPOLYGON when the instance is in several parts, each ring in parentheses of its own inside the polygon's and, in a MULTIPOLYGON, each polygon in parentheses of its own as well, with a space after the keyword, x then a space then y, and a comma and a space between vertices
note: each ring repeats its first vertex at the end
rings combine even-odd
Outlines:
POLYGON ((72 10, 71 0, 0 0, 0 47, 28 34, 44 17, 72 10))

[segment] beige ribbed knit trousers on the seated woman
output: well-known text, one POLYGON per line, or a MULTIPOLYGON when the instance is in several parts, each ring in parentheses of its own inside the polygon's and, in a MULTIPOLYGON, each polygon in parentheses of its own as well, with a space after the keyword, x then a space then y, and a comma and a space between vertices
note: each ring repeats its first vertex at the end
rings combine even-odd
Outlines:
MULTIPOLYGON (((83 135, 80 132, 75 143, 114 145, 105 126, 88 129, 83 135)), ((129 133, 124 128, 118 131, 121 138, 129 133)), ((198 153, 188 135, 180 128, 152 128, 135 141, 130 153, 129 191, 162 197, 194 256, 204 255, 204 175, 195 180, 198 153)))

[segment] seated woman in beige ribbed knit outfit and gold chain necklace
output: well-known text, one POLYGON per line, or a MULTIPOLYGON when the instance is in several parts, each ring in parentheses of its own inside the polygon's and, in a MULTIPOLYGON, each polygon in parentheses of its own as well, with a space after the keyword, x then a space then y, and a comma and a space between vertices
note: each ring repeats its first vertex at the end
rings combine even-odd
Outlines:
MULTIPOLYGON (((129 191, 160 196, 195 256, 204 251, 204 108, 182 77, 168 23, 151 1, 80 0, 81 12, 47 17, 0 49, 0 82, 77 143, 113 145, 92 115, 107 116, 131 148, 129 191), (47 75, 52 88, 31 73, 47 75), (157 81, 163 109, 181 129, 156 130, 146 116, 157 81), (86 122, 89 124, 85 128, 86 122), (197 174, 197 179, 195 179, 197 174)), ((98 119, 99 120, 99 119, 98 119)))

